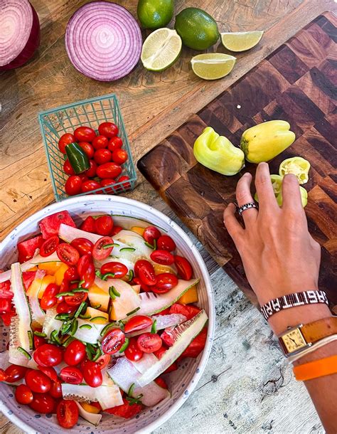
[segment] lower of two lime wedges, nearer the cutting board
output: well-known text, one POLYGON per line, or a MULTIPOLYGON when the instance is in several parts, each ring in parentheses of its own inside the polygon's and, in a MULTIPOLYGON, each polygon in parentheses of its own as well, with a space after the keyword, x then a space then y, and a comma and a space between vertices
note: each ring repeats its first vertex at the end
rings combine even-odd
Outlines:
POLYGON ((217 80, 228 75, 235 65, 236 58, 223 53, 195 55, 191 59, 193 73, 204 80, 217 80))

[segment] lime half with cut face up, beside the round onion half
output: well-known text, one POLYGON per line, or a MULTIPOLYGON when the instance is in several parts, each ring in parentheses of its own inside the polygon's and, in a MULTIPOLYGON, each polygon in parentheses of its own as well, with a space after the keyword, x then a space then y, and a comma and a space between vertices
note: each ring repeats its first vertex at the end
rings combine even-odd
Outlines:
POLYGON ((178 59, 181 46, 181 37, 175 30, 159 28, 144 41, 141 62, 146 69, 162 71, 178 59))

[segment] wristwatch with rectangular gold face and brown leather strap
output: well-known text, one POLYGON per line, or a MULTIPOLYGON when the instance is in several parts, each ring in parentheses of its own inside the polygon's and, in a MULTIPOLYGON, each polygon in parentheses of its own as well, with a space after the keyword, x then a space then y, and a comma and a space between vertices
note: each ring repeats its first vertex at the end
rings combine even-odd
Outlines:
POLYGON ((337 334, 337 317, 327 317, 309 324, 289 327, 278 338, 284 355, 289 357, 332 334, 337 334))

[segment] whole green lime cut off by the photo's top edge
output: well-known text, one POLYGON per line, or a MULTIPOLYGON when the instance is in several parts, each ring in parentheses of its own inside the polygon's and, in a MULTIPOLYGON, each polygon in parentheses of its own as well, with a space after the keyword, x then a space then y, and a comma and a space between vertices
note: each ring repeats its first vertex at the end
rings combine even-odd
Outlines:
POLYGON ((143 28, 165 27, 172 19, 174 0, 139 0, 137 15, 143 28))

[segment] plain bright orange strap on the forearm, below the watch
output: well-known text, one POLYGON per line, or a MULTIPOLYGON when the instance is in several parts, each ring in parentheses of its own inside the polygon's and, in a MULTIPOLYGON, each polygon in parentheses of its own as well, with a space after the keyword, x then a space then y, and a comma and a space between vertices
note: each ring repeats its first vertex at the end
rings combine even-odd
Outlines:
POLYGON ((293 372, 297 381, 307 381, 337 374, 337 355, 295 366, 293 372))

